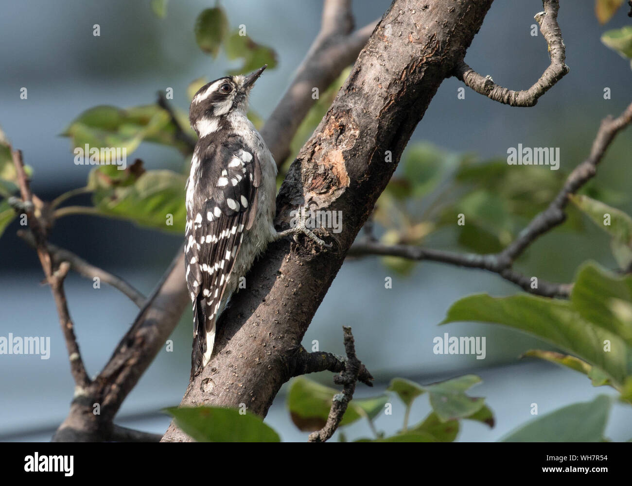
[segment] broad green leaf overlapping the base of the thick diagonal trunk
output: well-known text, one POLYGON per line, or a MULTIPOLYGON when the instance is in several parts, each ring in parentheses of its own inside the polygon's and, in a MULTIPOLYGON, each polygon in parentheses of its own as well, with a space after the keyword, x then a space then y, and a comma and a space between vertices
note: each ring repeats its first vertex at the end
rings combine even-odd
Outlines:
POLYGON ((281 442, 279 434, 253 413, 236 408, 200 406, 165 409, 197 442, 281 442))

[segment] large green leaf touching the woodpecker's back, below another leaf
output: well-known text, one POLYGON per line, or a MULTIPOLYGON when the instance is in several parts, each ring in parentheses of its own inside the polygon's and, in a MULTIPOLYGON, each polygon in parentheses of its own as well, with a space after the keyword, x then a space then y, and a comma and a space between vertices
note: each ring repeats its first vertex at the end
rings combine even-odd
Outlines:
POLYGON ((95 190, 93 203, 104 216, 181 234, 186 220, 185 182, 184 175, 171 170, 149 170, 130 185, 95 190), (167 224, 167 215, 173 216, 173 225, 167 224))

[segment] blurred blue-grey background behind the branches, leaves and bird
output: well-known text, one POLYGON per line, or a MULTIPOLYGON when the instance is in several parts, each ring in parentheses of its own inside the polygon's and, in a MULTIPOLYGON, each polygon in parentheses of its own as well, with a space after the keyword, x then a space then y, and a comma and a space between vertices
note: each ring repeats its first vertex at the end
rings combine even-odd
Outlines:
MULTIPOLYGON (((356 1, 356 25, 379 18, 389 4, 356 1)), ((161 19, 152 13, 149 0, 0 1, 0 126, 33 168, 35 194, 50 201, 85 185, 90 167, 75 165, 70 140, 59 136, 83 110, 95 105, 152 104, 155 93, 167 87, 173 87, 173 104, 186 110, 186 87, 193 79, 212 80, 238 66, 224 54, 210 59, 196 45, 195 18, 213 5, 209 0, 172 2, 161 19), (92 35, 95 23, 100 25, 100 37, 92 35), (23 86, 28 88, 27 100, 20 99, 23 86)), ((265 72, 251 97, 251 107, 265 119, 317 34, 322 5, 307 0, 232 0, 222 6, 231 30, 244 24, 250 37, 277 52, 277 68, 265 72)), ((537 0, 496 1, 468 49, 466 62, 502 86, 528 88, 549 64, 544 39, 539 33, 530 35, 533 15, 541 7, 537 0)), ((465 99, 460 100, 457 90, 462 84, 451 78, 432 100, 412 141, 482 158, 505 158, 507 148, 518 143, 560 147, 561 170, 554 177, 561 184, 562 172, 572 170, 588 154, 600 120, 607 114, 618 115, 631 101, 629 62, 599 40, 605 30, 628 23, 623 9, 600 26, 592 0, 562 2, 559 24, 571 71, 536 107, 500 105, 467 88, 465 99), (603 96, 606 87, 611 89, 609 100, 603 96)), ((623 194, 619 207, 628 212, 632 209, 628 198, 631 153, 628 130, 616 139, 597 176, 600 187, 623 194)), ((179 171, 183 167, 178 151, 166 146, 143 143, 133 157, 142 158, 148 169, 179 171)), ((89 201, 82 196, 73 204, 89 201)), ((19 228, 14 221, 0 238, 0 336, 50 336, 51 358, 0 355, 0 440, 47 441, 66 417, 73 382, 51 292, 40 285, 39 261, 16 237, 19 228)), ((570 282, 577 266, 587 259, 614 268, 608 241, 590 223, 581 231, 560 228, 538 240, 517 268, 554 282, 570 282)), ((51 242, 122 276, 149 295, 181 237, 123 221, 70 216, 59 220, 51 242)), ((449 231, 431 235, 424 244, 459 249, 449 231)), ((349 260, 320 305, 303 344, 311 349, 317 340, 320 350, 343 354, 341 326, 351 325, 358 356, 376 378, 374 390, 360 384, 356 396, 380 393, 395 376, 427 384, 478 374, 483 382, 471 394, 487 398, 496 424, 489 429, 466 421, 459 440, 495 441, 532 418, 532 403, 544 415, 599 393, 611 393, 593 388, 586 377, 571 370, 519 360, 530 348, 550 347, 511 329, 471 323, 437 326, 449 305, 464 295, 510 295, 518 290, 484 271, 422 263, 404 274, 394 273, 379 258, 349 260), (393 278, 391 290, 384 288, 386 276, 393 278), (433 338, 445 332, 486 336, 487 357, 435 355, 433 338)), ((94 289, 92 281, 76 275, 66 280, 66 293, 85 364, 88 372, 96 374, 137 309, 107 285, 94 289)), ((188 382, 190 314, 183 316, 171 339, 173 352, 159 353, 123 404, 118 424, 157 433, 166 430, 170 419, 161 409, 177 405, 188 382)), ((332 386, 331 374, 316 378, 332 386)), ((289 419, 285 393, 286 387, 266 420, 283 440, 305 441, 307 433, 298 431, 289 419)), ((393 415, 375 422, 380 430, 394 432, 401 426, 403 407, 397 400, 392 403, 393 415)), ((421 418, 428 409, 427 399, 418 400, 413 418, 421 418)), ((632 410, 614 405, 606 436, 623 441, 631 430, 632 410)), ((368 434, 367 425, 359 422, 348 435, 368 434)))

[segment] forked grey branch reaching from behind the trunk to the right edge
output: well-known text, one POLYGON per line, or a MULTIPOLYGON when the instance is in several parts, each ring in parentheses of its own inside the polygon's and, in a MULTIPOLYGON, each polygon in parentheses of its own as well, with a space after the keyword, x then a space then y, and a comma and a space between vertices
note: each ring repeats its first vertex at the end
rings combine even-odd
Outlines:
POLYGON ((544 211, 536 215, 523 229, 518 237, 503 251, 497 254, 456 253, 450 251, 427 249, 411 245, 386 245, 378 241, 364 240, 351 246, 348 255, 385 255, 399 256, 412 260, 430 260, 449 263, 468 268, 480 268, 499 274, 502 278, 520 285, 526 292, 544 297, 568 297, 573 285, 570 283, 550 283, 538 279, 537 288, 532 288, 531 278, 517 271, 512 266, 540 235, 560 225, 566 220, 568 196, 576 193, 597 173, 597 165, 604 157, 605 151, 619 131, 632 123, 632 104, 617 118, 606 117, 597 131, 590 155, 569 174, 561 191, 544 211))

